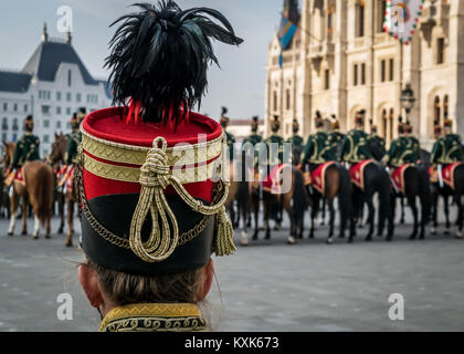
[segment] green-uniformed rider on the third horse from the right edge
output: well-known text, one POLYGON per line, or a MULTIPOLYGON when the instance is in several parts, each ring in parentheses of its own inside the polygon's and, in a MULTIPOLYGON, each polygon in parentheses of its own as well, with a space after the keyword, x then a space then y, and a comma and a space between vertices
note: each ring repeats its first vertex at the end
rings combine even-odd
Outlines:
POLYGON ((368 134, 363 131, 366 111, 358 112, 356 116, 356 127, 350 131, 344 139, 339 160, 349 164, 359 164, 363 160, 371 159, 368 134))

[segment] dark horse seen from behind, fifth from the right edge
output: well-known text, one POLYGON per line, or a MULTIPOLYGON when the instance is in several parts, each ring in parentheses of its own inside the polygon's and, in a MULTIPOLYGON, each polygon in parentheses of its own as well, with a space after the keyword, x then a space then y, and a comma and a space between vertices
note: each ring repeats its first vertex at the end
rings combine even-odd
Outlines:
POLYGON ((287 212, 291 221, 291 232, 287 238, 287 243, 295 244, 297 242, 296 239, 302 238, 303 235, 304 212, 309 205, 309 198, 304 188, 303 174, 299 169, 287 164, 281 165, 276 168, 280 169, 278 174, 275 176, 276 189, 268 190, 257 181, 253 184, 253 190, 251 192, 251 206, 252 209, 254 209, 253 211, 255 216, 253 241, 259 239, 260 233, 257 214, 260 195, 262 195, 266 232, 264 239, 271 239, 270 219, 272 209, 274 208, 275 210, 278 208, 278 206, 282 206, 283 209, 287 212), (285 180, 286 177, 291 177, 291 180, 285 180))

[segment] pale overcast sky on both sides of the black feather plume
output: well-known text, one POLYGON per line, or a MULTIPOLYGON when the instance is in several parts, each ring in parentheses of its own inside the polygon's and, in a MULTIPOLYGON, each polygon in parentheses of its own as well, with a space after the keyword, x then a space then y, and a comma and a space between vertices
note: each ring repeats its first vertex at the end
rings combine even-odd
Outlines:
MULTIPOLYGON (((50 37, 64 38, 56 28, 60 6, 73 10, 73 45, 88 71, 106 79, 103 69, 108 41, 114 32, 108 25, 136 0, 1 0, 0 69, 21 70, 40 43, 43 23, 50 37)), ((139 1, 145 2, 145 1, 139 1)), ((148 1, 147 1, 148 2, 148 1)), ((151 1, 152 2, 152 1, 151 1)), ((219 116, 222 105, 231 118, 263 116, 265 65, 282 12, 283 0, 178 0, 181 8, 211 7, 222 11, 245 42, 240 46, 215 44, 221 69, 212 67, 209 92, 202 113, 219 116)))

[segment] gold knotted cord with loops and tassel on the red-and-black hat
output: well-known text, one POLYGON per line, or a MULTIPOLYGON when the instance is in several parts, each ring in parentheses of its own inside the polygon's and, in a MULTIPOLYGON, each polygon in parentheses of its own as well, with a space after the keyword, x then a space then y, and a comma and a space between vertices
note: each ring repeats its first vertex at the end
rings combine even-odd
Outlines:
POLYGON ((129 240, 120 238, 103 227, 93 216, 86 201, 82 181, 83 150, 80 148, 80 166, 75 174, 75 183, 80 190, 80 205, 83 212, 95 231, 107 241, 124 248, 128 248, 141 260, 155 263, 169 258, 176 248, 192 240, 200 235, 210 216, 217 215, 215 241, 213 251, 217 256, 232 254, 236 249, 233 243, 233 228, 225 212, 225 200, 229 195, 229 184, 220 180, 214 189, 212 206, 194 199, 182 186, 178 178, 170 174, 168 157, 166 154, 167 143, 162 137, 154 140, 152 148, 148 152, 146 163, 140 168, 139 183, 141 190, 130 223, 129 240), (191 230, 179 236, 179 227, 165 196, 165 189, 171 186, 179 197, 196 212, 202 214, 203 219, 191 230), (151 232, 147 242, 141 241, 141 228, 148 216, 151 217, 151 232))

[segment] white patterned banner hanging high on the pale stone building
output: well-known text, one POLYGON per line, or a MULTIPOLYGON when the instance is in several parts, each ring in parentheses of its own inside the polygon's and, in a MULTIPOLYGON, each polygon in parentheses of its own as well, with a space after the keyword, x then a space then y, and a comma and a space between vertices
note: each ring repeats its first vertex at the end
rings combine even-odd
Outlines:
POLYGON ((422 14, 424 0, 387 0, 383 29, 402 44, 410 44, 422 14))

